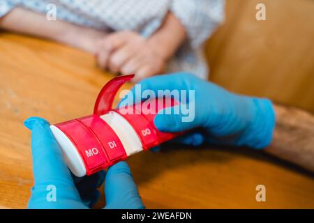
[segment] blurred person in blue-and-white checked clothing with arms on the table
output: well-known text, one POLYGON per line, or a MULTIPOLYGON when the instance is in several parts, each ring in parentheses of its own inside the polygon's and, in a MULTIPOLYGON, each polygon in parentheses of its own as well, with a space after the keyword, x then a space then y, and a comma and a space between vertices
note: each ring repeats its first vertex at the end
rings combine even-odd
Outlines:
POLYGON ((2 0, 0 27, 84 49, 103 70, 135 73, 135 82, 181 70, 206 79, 202 45, 223 22, 224 5, 224 0, 2 0), (50 20, 54 11, 57 20, 50 20))

